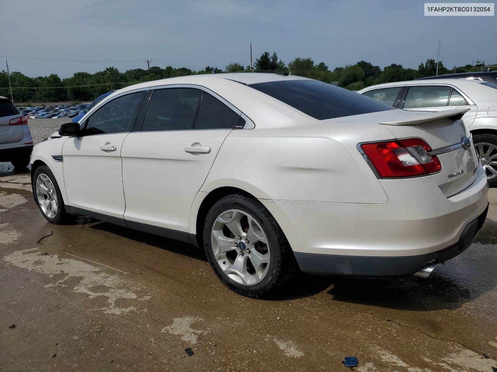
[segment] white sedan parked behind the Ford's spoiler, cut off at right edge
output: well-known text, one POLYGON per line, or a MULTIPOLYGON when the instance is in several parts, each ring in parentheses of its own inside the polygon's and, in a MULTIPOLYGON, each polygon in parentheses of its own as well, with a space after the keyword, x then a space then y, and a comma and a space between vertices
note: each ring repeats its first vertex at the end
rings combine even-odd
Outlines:
POLYGON ((466 108, 463 122, 490 186, 497 186, 497 84, 478 79, 432 79, 372 85, 358 93, 405 110, 466 108))

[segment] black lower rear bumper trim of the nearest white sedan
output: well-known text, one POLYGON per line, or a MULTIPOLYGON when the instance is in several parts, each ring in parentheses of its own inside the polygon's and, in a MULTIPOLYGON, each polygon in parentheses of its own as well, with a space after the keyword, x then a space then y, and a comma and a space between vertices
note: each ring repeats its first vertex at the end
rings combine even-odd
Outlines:
POLYGON ((456 244, 433 253, 401 257, 364 257, 294 252, 295 258, 302 272, 316 275, 353 277, 413 275, 430 262, 445 262, 466 250, 482 228, 488 210, 489 203, 482 214, 465 226, 456 244))

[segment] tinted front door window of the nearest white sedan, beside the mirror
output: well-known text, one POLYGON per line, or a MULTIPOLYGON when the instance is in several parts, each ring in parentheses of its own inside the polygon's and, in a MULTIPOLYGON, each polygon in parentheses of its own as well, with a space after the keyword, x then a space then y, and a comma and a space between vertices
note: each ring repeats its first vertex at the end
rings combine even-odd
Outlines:
POLYGON ((86 134, 130 132, 135 124, 132 121, 142 92, 131 93, 116 98, 92 114, 86 122, 86 134))

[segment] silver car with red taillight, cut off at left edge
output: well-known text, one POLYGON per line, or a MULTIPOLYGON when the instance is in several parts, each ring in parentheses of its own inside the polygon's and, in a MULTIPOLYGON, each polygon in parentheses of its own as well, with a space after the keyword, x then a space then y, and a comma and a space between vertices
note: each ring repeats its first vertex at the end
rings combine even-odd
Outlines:
POLYGON ((33 138, 28 120, 8 98, 0 96, 0 161, 11 162, 15 168, 29 164, 33 138))

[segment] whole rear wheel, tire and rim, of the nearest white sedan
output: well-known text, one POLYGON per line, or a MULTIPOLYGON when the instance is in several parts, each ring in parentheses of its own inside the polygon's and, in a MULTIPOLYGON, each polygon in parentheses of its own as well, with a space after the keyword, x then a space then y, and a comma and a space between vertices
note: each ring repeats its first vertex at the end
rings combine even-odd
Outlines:
POLYGON ((229 195, 212 206, 204 247, 221 282, 246 297, 274 294, 297 271, 278 223, 258 200, 245 195, 229 195))

